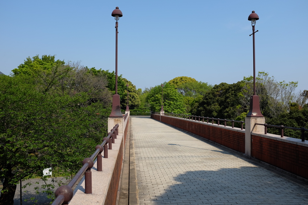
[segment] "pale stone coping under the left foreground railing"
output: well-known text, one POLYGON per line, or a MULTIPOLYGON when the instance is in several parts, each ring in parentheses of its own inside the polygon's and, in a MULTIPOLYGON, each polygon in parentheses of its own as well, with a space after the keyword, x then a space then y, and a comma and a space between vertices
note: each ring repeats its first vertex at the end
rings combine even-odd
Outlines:
MULTIPOLYGON (((115 162, 119 153, 120 145, 123 139, 123 133, 117 135, 115 143, 112 144, 112 150, 108 150, 108 158, 102 159, 103 171, 97 170, 96 159, 92 167, 92 194, 85 194, 84 176, 74 190, 73 199, 69 202, 70 205, 103 205, 106 200, 109 184, 111 181, 112 173, 115 167, 115 162)), ((102 152, 102 155, 104 153, 102 152)))

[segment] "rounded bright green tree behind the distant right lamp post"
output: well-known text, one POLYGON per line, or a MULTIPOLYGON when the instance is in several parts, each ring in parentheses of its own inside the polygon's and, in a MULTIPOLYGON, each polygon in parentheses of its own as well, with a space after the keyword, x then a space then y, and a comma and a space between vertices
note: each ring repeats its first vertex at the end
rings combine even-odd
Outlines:
MULTIPOLYGON (((154 112, 159 112, 161 109, 161 95, 161 86, 157 85, 150 90, 146 98, 154 112)), ((177 92, 175 86, 166 82, 163 87, 163 104, 165 112, 184 113, 185 111, 183 95, 177 92)))

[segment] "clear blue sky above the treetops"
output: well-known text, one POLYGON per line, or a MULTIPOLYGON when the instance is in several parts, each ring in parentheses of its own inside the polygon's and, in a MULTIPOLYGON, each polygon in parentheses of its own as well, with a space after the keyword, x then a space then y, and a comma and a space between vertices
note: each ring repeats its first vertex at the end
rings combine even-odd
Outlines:
POLYGON ((1 1, 0 71, 30 56, 56 55, 88 67, 115 70, 137 88, 178 76, 209 84, 253 74, 251 23, 256 23, 256 70, 308 90, 307 0, 276 1, 1 1))

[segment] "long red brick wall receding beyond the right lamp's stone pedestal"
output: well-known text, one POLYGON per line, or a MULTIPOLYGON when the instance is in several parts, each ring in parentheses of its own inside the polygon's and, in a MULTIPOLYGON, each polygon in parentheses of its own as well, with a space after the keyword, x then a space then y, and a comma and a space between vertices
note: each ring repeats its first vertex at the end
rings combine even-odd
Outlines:
MULTIPOLYGON (((151 115, 151 118, 157 119, 160 115, 151 115)), ((245 133, 232 131, 229 129, 217 126, 209 126, 206 123, 197 123, 193 120, 184 120, 180 118, 172 118, 168 116, 161 116, 161 122, 167 123, 182 130, 191 132, 195 135, 209 139, 215 143, 229 147, 233 150, 245 153, 245 133)))

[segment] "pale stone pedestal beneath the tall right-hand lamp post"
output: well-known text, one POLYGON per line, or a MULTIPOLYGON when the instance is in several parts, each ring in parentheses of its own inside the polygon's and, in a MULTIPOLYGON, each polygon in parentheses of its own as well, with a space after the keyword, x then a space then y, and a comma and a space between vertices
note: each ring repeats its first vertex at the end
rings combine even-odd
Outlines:
POLYGON ((251 132, 263 132, 264 126, 255 125, 255 123, 264 124, 265 118, 245 118, 245 154, 251 156, 251 132))

